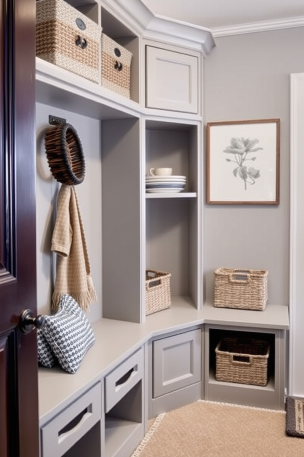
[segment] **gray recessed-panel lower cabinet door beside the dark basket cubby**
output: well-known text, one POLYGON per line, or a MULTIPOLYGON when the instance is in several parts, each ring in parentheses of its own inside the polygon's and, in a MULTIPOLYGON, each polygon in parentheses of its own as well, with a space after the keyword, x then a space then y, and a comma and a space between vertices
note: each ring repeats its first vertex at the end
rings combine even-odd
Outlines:
POLYGON ((153 398, 201 381, 201 329, 153 342, 153 398))

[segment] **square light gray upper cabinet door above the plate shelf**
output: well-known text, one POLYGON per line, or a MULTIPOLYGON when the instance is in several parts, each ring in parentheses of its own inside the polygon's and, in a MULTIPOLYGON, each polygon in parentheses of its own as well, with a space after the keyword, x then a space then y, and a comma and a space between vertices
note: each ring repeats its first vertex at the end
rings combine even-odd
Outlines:
POLYGON ((198 113, 198 58, 146 47, 146 106, 198 113))

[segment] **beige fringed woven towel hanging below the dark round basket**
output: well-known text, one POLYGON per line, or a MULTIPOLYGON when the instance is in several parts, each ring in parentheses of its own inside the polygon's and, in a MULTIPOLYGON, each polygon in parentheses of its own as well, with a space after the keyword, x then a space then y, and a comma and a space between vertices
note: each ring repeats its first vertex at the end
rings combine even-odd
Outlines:
POLYGON ((59 189, 51 250, 57 254, 52 309, 57 311, 61 296, 67 293, 77 301, 80 308, 88 311, 97 296, 74 186, 62 184, 59 189))

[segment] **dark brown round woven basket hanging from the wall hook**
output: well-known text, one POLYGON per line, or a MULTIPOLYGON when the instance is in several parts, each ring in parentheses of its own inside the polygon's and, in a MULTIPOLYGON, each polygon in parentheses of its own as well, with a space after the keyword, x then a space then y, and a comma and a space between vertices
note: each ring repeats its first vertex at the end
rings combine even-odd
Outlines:
POLYGON ((54 178, 75 186, 84 179, 85 161, 78 134, 71 124, 48 128, 45 135, 46 156, 54 178))

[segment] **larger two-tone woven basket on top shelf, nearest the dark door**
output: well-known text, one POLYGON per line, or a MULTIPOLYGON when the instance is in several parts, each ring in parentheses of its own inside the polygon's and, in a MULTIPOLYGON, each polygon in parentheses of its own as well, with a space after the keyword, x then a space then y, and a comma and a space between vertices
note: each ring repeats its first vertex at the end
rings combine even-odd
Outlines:
POLYGON ((36 2, 36 56, 98 84, 101 32, 63 0, 36 2))

